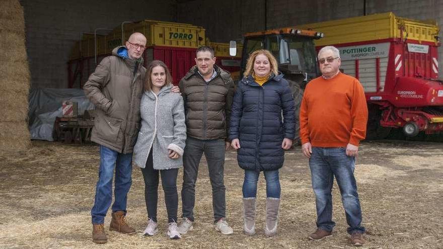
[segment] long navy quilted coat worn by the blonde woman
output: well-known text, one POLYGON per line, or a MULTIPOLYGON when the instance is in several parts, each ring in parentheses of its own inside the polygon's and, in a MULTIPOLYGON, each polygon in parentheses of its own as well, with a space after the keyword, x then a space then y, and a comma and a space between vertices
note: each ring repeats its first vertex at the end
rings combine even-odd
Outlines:
POLYGON ((284 161, 281 143, 283 138, 294 138, 295 118, 294 100, 282 74, 271 75, 263 86, 251 75, 243 77, 234 95, 229 128, 229 138, 240 140, 240 168, 280 169, 284 161))

